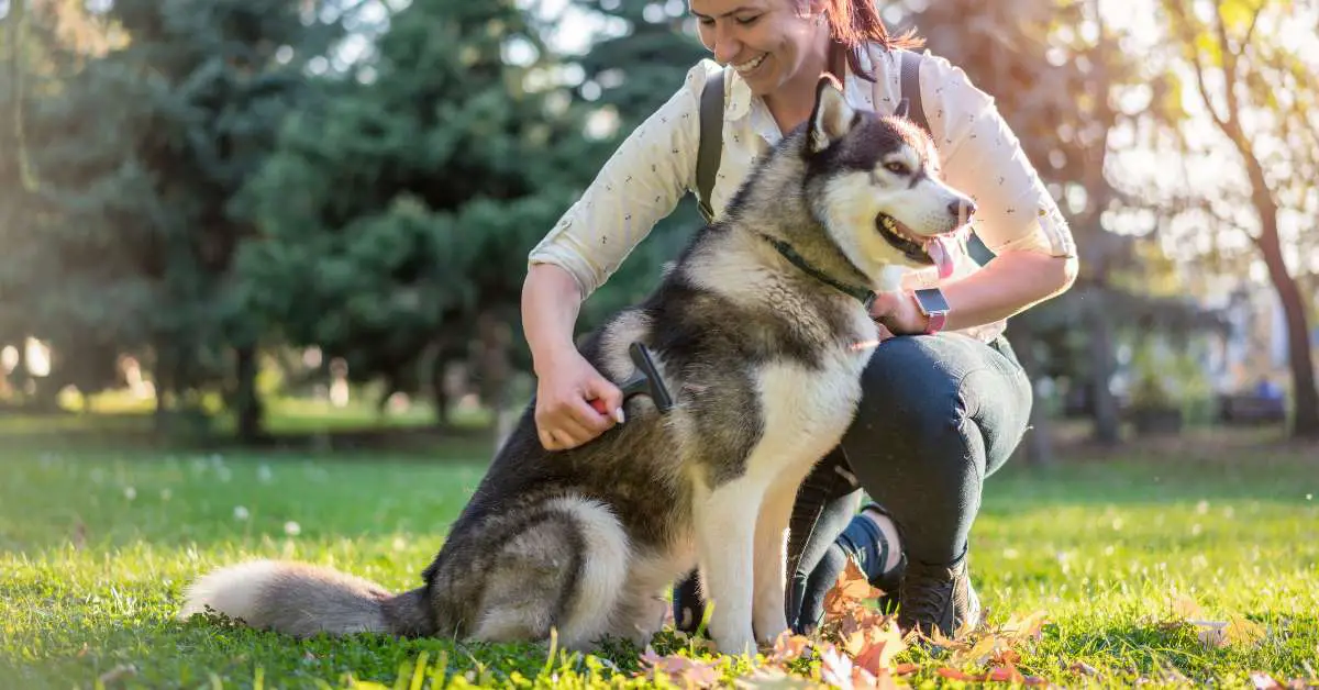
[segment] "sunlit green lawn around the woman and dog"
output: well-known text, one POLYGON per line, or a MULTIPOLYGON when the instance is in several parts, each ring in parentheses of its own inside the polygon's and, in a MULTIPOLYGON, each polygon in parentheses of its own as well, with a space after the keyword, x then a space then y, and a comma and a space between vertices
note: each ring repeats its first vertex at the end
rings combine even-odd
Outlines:
MULTIPOLYGON (((297 643, 171 619, 189 578, 252 555, 414 586, 480 476, 471 445, 434 458, 24 446, 0 438, 11 449, 0 450, 3 687, 644 682, 627 650, 547 664, 536 648, 297 643)), ((1319 683, 1319 454, 1190 455, 1010 467, 989 482, 972 544, 977 590, 995 623, 1049 620, 1018 646, 1022 673, 1063 686, 1242 686, 1252 670, 1319 683), (1207 646, 1203 628, 1169 624, 1178 599, 1257 633, 1207 646)), ((901 654, 918 670, 900 682, 943 681, 939 654, 901 654)))

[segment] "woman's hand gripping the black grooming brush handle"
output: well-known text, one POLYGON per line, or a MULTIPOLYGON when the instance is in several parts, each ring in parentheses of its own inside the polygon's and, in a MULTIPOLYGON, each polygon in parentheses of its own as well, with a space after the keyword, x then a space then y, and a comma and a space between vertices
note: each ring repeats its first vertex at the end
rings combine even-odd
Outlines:
POLYGON ((623 421, 623 392, 576 348, 537 367, 537 375, 536 429, 545 450, 574 449, 623 421))

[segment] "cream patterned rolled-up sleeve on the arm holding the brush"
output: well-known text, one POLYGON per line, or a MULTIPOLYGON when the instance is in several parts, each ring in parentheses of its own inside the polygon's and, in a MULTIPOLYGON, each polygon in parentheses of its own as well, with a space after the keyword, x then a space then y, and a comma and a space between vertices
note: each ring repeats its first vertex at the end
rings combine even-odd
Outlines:
POLYGON ((707 59, 689 70, 683 86, 628 135, 532 249, 529 265, 563 268, 586 298, 673 212, 695 186, 700 91, 714 69, 707 59))

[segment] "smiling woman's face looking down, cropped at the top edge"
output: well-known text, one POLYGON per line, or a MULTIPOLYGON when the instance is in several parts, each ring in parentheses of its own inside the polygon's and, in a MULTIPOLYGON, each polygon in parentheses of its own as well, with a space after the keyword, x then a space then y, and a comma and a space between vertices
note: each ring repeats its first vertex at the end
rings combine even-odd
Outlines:
POLYGON ((732 65, 753 92, 785 83, 814 83, 824 69, 828 22, 810 0, 690 0, 700 42, 720 65, 732 65))

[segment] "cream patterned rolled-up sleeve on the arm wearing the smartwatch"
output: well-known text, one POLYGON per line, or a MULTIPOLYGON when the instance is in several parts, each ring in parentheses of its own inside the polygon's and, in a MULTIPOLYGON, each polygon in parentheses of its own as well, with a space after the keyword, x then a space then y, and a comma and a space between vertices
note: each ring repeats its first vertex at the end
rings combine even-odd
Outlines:
POLYGON ((975 199, 973 228, 985 247, 1076 256, 1071 228, 993 98, 930 54, 921 61, 921 96, 943 178, 975 199))

